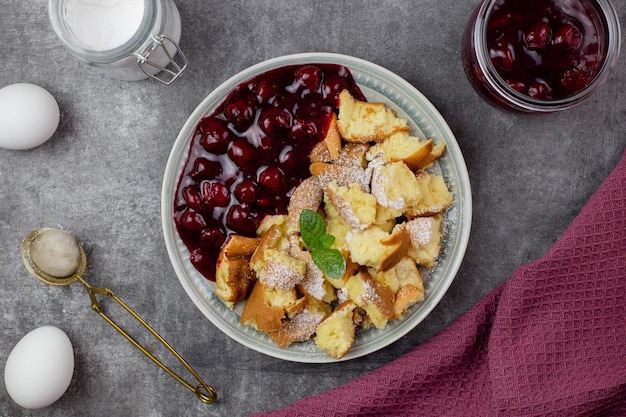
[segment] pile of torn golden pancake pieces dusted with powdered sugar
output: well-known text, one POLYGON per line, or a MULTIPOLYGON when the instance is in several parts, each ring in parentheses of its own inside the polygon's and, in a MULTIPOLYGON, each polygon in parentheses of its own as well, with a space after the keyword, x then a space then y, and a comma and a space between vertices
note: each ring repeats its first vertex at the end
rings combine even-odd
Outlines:
POLYGON ((245 302, 241 323, 279 347, 312 340, 341 359, 359 331, 384 329, 424 301, 420 271, 437 263, 454 196, 427 170, 444 143, 411 136, 386 105, 347 91, 336 111, 288 213, 267 216, 256 238, 235 235, 223 246, 215 293, 230 305, 245 302), (300 231, 305 209, 322 216, 330 248, 346 261, 343 276, 313 261, 300 231))

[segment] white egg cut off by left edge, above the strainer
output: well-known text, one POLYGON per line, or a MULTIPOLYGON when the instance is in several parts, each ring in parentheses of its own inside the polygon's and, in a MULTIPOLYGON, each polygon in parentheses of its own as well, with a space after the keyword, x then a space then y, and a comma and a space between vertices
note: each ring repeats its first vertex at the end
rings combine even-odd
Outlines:
POLYGON ((46 89, 18 83, 0 88, 0 147, 31 149, 59 126, 59 105, 46 89))

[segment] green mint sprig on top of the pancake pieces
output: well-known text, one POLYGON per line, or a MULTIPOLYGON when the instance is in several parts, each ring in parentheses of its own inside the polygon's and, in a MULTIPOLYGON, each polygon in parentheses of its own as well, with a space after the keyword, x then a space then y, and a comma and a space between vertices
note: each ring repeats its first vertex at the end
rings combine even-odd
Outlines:
POLYGON ((346 271, 346 259, 337 249, 330 248, 335 242, 335 236, 326 233, 326 221, 319 213, 302 210, 300 236, 311 252, 315 265, 329 277, 340 279, 346 271))

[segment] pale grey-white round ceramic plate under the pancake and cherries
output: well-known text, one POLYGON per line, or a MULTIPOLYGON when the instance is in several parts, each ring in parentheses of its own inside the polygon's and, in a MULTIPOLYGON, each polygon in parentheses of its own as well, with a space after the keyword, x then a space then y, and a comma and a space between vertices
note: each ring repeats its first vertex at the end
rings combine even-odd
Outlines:
MULTIPOLYGON (((268 70, 294 64, 331 63, 345 65, 369 101, 382 101, 409 120, 414 136, 444 141, 445 155, 434 169, 441 173, 454 193, 454 205, 444 216, 444 239, 439 260, 432 270, 424 270, 425 301, 413 306, 403 319, 390 322, 383 330, 360 332, 343 360, 354 359, 382 349, 411 331, 433 310, 459 269, 469 239, 472 218, 470 183, 459 146, 443 117, 411 84, 396 74, 358 58, 307 53, 283 56, 261 62, 233 76, 207 98, 189 116, 172 148, 165 169, 162 190, 162 222, 167 251, 185 291, 202 313, 220 330, 241 344, 267 355, 295 362, 334 362, 313 342, 277 347, 265 334, 239 323, 238 310, 231 311, 213 293, 214 283, 206 280, 189 261, 189 252, 178 236, 173 220, 173 202, 178 179, 183 170, 196 125, 210 114, 237 85, 268 70)), ((240 311, 240 310, 239 310, 240 311)))

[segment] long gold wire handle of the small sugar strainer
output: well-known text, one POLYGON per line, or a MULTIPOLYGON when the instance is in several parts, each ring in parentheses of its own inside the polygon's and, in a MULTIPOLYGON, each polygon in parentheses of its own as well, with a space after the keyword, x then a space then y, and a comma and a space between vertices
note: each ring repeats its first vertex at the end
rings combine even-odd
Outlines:
POLYGON ((181 383, 190 391, 194 392, 196 396, 206 404, 211 404, 217 400, 217 392, 213 387, 207 385, 200 375, 185 361, 174 348, 161 337, 159 333, 156 332, 148 323, 144 321, 137 313, 133 311, 126 303, 124 303, 120 298, 118 298, 113 291, 108 288, 98 288, 92 287, 89 285, 82 277, 78 276, 78 280, 83 284, 87 293, 89 294, 89 298, 91 299, 91 308, 98 313, 107 323, 109 323, 115 330, 117 330, 122 336, 124 336, 130 343, 132 343, 137 349, 139 349, 144 355, 150 358, 154 363, 156 363, 161 369, 167 372, 172 378, 181 383), (143 346, 141 346, 132 336, 130 336, 124 329, 122 329, 117 323, 115 323, 111 318, 109 318, 100 308, 100 304, 96 298, 96 295, 103 295, 107 297, 111 297, 115 302, 117 302, 120 306, 124 308, 131 316, 133 316, 143 327, 148 329, 152 335, 163 344, 175 357, 178 359, 180 363, 183 364, 185 368, 196 378, 199 382, 197 385, 192 385, 189 382, 185 381, 178 374, 168 368, 163 362, 161 362, 158 358, 156 358, 152 353, 148 352, 143 346))

